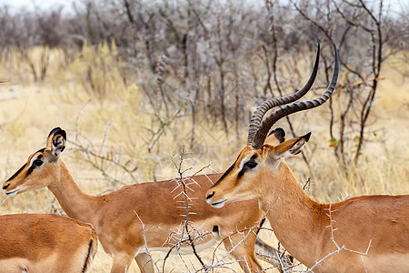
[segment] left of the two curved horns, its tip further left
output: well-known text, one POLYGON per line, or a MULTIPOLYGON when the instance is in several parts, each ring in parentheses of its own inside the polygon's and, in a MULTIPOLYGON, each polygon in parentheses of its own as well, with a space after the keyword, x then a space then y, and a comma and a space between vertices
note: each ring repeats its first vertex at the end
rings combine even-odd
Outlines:
POLYGON ((313 72, 311 73, 310 78, 308 79, 307 83, 305 84, 303 88, 296 91, 293 95, 273 97, 273 98, 270 98, 264 101, 261 105, 257 106, 257 108, 255 109, 253 113, 252 119, 250 120, 250 126, 248 129, 248 136, 247 136, 247 145, 253 144, 254 136, 256 135, 260 127, 260 124, 263 121, 263 117, 265 113, 267 113, 268 110, 276 106, 282 106, 282 105, 292 103, 296 101, 297 99, 300 99, 311 89, 311 86, 313 86, 316 74, 318 72, 319 60, 320 60, 320 44, 318 44, 318 49, 316 50, 313 72))

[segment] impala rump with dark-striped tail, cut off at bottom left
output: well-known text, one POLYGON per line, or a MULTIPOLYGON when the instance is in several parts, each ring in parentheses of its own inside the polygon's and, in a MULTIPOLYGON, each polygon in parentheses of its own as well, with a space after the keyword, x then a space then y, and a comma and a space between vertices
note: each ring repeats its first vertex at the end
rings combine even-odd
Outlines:
POLYGON ((84 273, 98 239, 94 228, 54 214, 0 216, 0 271, 84 273))

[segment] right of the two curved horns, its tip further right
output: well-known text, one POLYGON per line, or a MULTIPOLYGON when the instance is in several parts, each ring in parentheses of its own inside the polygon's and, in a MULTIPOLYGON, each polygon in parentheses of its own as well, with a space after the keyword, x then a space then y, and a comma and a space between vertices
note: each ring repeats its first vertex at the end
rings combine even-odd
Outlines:
POLYGON ((294 114, 299 111, 312 109, 316 106, 321 106, 333 94, 335 85, 336 85, 336 79, 338 78, 338 68, 339 68, 338 51, 336 50, 336 45, 334 45, 334 50, 335 50, 335 65, 334 65, 333 77, 331 78, 331 82, 329 86, 326 88, 324 94, 313 100, 294 103, 289 106, 284 106, 280 109, 275 110, 272 114, 270 114, 270 116, 267 116, 264 119, 262 125, 260 126, 260 128, 258 129, 257 133, 254 136, 252 147, 256 149, 263 148, 264 140, 268 134, 268 131, 274 125, 274 123, 277 122, 279 119, 283 118, 284 116, 288 116, 288 115, 294 114))

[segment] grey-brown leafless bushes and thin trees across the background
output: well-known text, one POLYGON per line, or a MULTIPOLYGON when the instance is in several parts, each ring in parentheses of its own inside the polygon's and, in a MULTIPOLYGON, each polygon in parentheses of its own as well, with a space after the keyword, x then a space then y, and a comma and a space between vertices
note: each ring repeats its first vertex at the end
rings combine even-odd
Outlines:
MULTIPOLYGON (((202 116, 209 126, 239 136, 249 119, 246 109, 300 86, 301 56, 312 55, 318 42, 324 47, 326 83, 334 57, 325 47, 336 44, 344 74, 340 92, 330 102, 329 139, 344 166, 358 163, 365 141, 374 138, 367 127, 374 118, 371 110, 384 60, 408 45, 408 12, 392 14, 381 0, 266 0, 264 5, 105 0, 84 1, 74 11, 65 16, 60 10, 17 16, 5 8, 0 13, 0 48, 19 48, 34 78, 41 80, 47 70, 46 48, 64 48, 70 62, 73 52, 80 53, 73 45, 115 41, 118 56, 127 64, 121 72, 125 83, 143 87, 157 121, 173 120, 175 113, 191 117, 190 148, 195 147, 202 116), (39 65, 27 57, 35 45, 44 45, 39 65)), ((287 122, 294 132, 291 120, 287 122)), ((153 132, 147 140, 149 149, 160 134, 153 132)), ((307 164, 308 158, 304 154, 307 164)))

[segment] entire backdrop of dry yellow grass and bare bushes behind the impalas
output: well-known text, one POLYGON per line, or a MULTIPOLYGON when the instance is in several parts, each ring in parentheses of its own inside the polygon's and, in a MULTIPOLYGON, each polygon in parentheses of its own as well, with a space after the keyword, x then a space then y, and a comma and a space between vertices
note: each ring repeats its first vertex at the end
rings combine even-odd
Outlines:
MULTIPOLYGON (((324 106, 277 124, 289 137, 313 132, 303 156, 289 162, 296 177, 310 178, 309 194, 322 202, 408 194, 404 7, 105 0, 78 2, 69 15, 4 7, 0 177, 44 147, 55 126, 67 131, 63 158, 89 194, 175 177, 169 155, 182 147, 190 152, 186 166, 211 163, 207 173, 223 172, 245 144, 254 107, 303 86, 320 42, 319 75, 307 97, 328 83, 332 43, 342 65, 337 91, 324 106)), ((46 189, 0 201, 1 214, 62 212, 46 189)), ((94 271, 110 264, 99 248, 94 271)), ((172 267, 186 270, 177 257, 172 267)))

